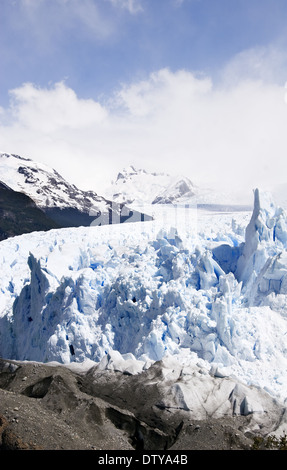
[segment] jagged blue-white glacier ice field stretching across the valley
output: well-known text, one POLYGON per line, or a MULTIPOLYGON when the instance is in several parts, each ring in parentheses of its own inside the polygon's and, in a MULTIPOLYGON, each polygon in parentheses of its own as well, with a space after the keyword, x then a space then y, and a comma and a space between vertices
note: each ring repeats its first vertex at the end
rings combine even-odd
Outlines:
POLYGON ((152 222, 1 242, 0 355, 70 364, 116 351, 133 370, 172 356, 284 401, 284 211, 259 193, 253 215, 150 209, 152 222))

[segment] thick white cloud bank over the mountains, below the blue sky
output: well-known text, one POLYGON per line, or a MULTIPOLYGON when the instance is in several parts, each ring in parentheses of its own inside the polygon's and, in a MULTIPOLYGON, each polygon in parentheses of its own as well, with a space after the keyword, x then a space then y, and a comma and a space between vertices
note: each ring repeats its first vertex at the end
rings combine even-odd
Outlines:
MULTIPOLYGON (((54 166, 101 192, 128 164, 183 173, 195 183, 246 189, 286 182, 286 89, 246 78, 162 69, 126 84, 109 104, 83 100, 65 83, 12 90, 0 148, 54 166)), ((1 114, 0 114, 1 122, 1 114)))

